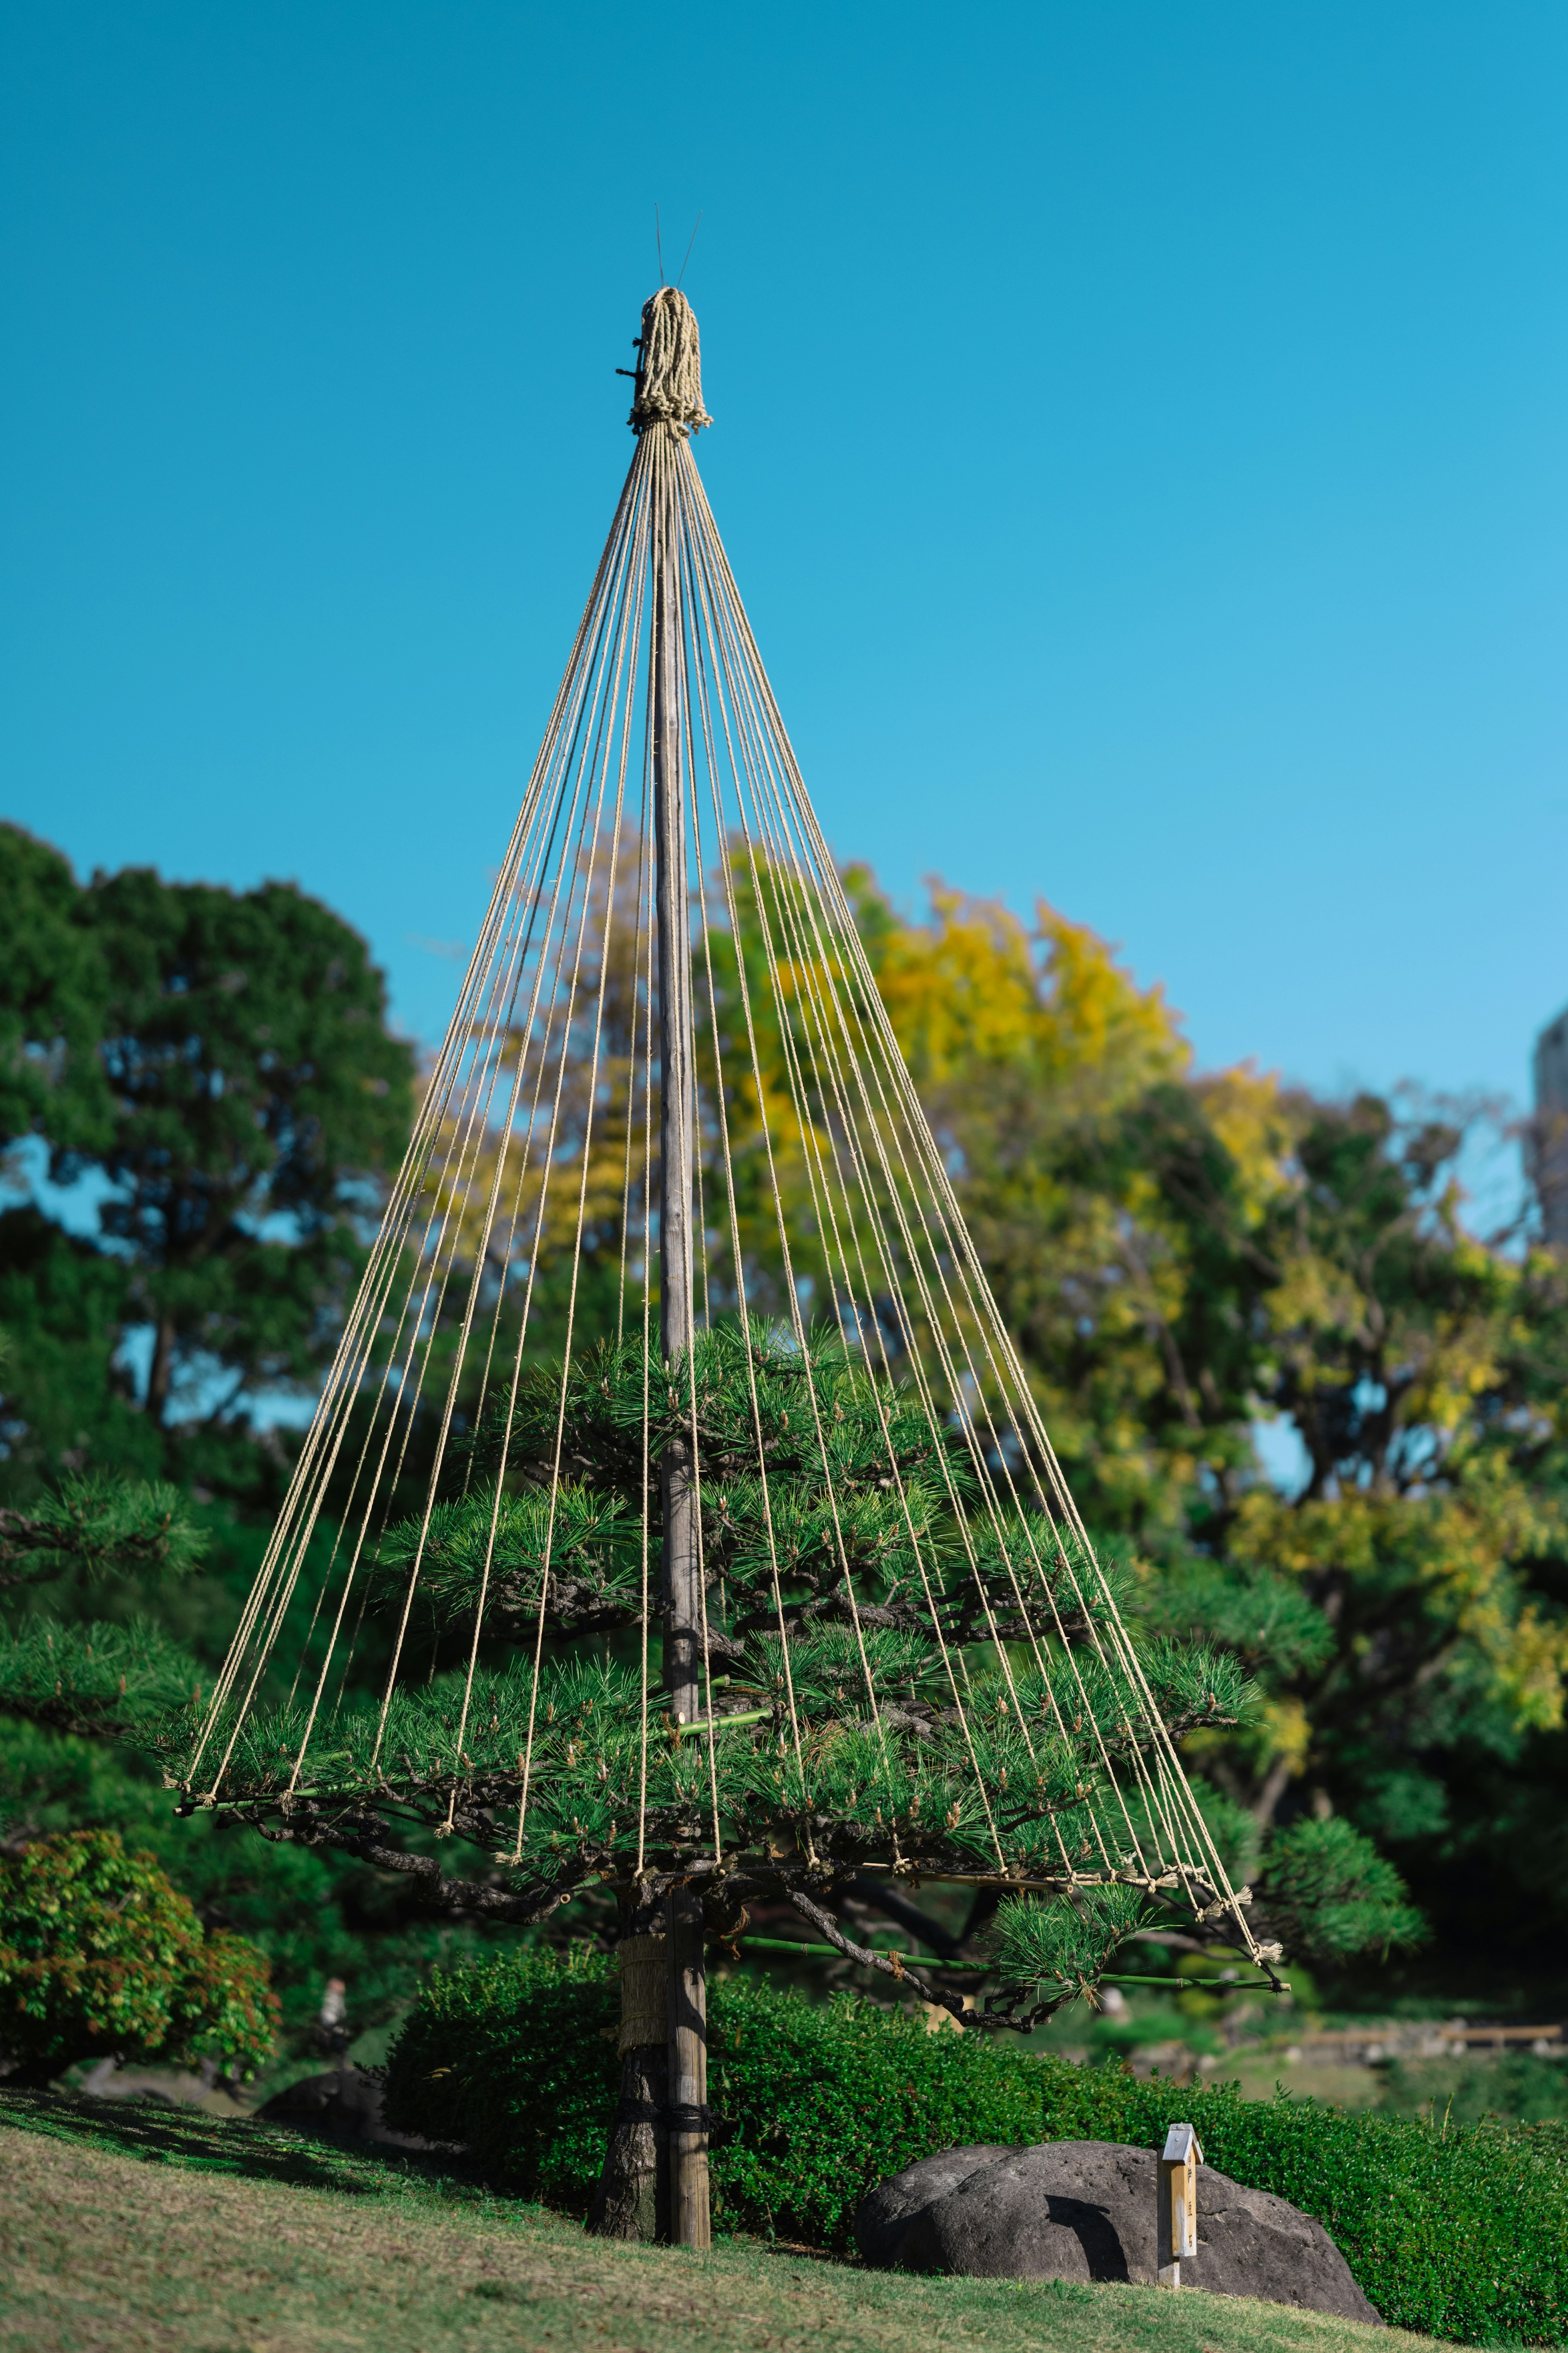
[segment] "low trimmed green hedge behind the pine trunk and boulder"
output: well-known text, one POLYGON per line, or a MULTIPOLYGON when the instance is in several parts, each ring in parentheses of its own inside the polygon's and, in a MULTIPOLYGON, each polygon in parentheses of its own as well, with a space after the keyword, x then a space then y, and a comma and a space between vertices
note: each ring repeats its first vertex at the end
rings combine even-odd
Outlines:
MULTIPOLYGON (((604 1958, 529 1953, 440 1974, 388 2061, 388 2122, 463 2141, 498 2181, 567 2212, 592 2198, 616 2099, 604 1958)), ((884 2174, 966 2141, 1164 2139, 1331 2231, 1385 2320, 1462 2344, 1568 2339, 1568 2127, 1441 2132, 1309 2099, 1175 2089, 750 1977, 710 1988, 719 2228, 846 2249, 884 2174)))

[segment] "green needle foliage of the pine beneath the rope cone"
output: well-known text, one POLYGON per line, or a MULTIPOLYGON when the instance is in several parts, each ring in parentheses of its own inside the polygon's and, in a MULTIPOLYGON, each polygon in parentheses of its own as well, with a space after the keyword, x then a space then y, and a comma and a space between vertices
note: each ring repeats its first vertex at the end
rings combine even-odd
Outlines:
POLYGON ((1159 1638, 1131 1692, 1105 1645, 1117 1572, 1091 1574, 1044 1513, 976 1511, 978 1473, 957 1414, 933 1424, 837 1334, 715 1325, 675 1367, 642 1341, 538 1365, 369 1572, 371 1607, 421 1626, 433 1668, 461 1664, 386 1699, 306 1671, 287 1706, 209 1725, 223 1798, 270 1835, 360 1852, 397 1826, 456 1833, 536 1915, 590 1875, 715 1857, 738 1897, 863 1868, 1044 1882, 1051 1901, 1006 1906, 997 1958, 1004 2005, 1056 2007, 1147 1915, 1150 1753, 1234 1725, 1251 1685, 1234 1657, 1159 1638), (698 1725, 668 1718, 658 1638, 637 1640, 658 1626, 661 1464, 682 1440, 698 1725))

